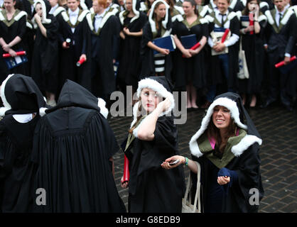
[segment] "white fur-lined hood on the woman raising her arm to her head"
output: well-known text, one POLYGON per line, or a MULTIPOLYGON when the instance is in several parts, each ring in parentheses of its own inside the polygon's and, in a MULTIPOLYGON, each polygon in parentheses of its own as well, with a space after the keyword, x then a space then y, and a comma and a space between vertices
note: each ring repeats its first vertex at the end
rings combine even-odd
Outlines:
MULTIPOLYGON (((171 84, 170 84, 170 82, 168 82, 166 77, 149 77, 146 79, 141 79, 141 81, 139 81, 139 86, 137 89, 137 98, 138 99, 141 96, 142 89, 144 89, 144 88, 152 89, 154 92, 158 92, 158 94, 160 96, 162 96, 164 99, 168 98, 171 101, 171 106, 168 108, 167 111, 160 114, 160 116, 164 116, 168 113, 171 113, 171 111, 174 109, 175 102, 174 102, 173 94, 171 93, 171 84)), ((137 121, 137 116, 139 116, 141 114, 139 112, 140 104, 141 104, 140 101, 138 101, 138 102, 136 102, 136 104, 134 104, 134 107, 133 107, 134 119, 131 123, 130 128, 132 128, 134 126, 134 124, 137 121)), ((135 128, 133 131, 133 134, 135 137, 137 137, 137 132, 138 132, 139 126, 137 128, 135 128)))

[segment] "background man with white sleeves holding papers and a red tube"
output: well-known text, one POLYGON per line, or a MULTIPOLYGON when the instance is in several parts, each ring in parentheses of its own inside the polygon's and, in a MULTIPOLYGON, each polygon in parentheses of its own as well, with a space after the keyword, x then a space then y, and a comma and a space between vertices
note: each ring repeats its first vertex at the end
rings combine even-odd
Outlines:
POLYGON ((230 0, 218 0, 217 11, 210 17, 210 77, 206 99, 212 102, 217 93, 217 84, 226 84, 218 92, 237 91, 239 28, 240 23, 235 12, 229 12, 230 0), (223 40, 225 39, 225 40, 223 40))

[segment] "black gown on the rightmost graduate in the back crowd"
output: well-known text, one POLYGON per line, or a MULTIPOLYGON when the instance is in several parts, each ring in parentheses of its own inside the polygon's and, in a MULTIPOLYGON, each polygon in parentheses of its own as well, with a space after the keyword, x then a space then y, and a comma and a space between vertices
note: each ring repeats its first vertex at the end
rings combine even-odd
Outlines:
MULTIPOLYGON (((285 12, 281 22, 286 20, 287 13, 291 13, 291 10, 288 9, 285 12)), ((296 83, 296 72, 291 70, 291 72, 282 74, 274 67, 274 65, 284 60, 285 53, 289 53, 291 56, 296 54, 294 48, 296 45, 297 18, 295 13, 291 13, 291 16, 287 19, 286 24, 280 23, 280 26, 278 27, 275 21, 276 9, 266 11, 265 15, 268 19, 265 35, 266 42, 268 44, 267 53, 269 60, 270 84, 269 96, 276 99, 279 94, 278 90, 280 89, 281 101, 284 103, 284 101, 287 99, 287 94, 291 97, 295 96, 296 94, 296 87, 291 86, 292 84, 296 83)))

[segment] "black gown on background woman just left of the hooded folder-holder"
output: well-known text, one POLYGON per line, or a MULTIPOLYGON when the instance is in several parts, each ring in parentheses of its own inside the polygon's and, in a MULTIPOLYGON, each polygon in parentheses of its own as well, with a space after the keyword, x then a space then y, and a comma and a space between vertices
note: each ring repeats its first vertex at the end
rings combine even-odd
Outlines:
MULTIPOLYGON (((127 13, 129 13, 127 11, 127 13)), ((124 15, 123 15, 124 16, 124 15)), ((139 13, 139 18, 131 22, 132 18, 124 17, 122 28, 129 28, 130 32, 139 32, 144 27, 147 17, 144 13, 139 13)), ((119 50, 119 69, 117 72, 117 83, 122 86, 132 85, 137 87, 141 70, 140 61, 141 36, 131 36, 125 34, 125 39, 121 39, 119 50)))

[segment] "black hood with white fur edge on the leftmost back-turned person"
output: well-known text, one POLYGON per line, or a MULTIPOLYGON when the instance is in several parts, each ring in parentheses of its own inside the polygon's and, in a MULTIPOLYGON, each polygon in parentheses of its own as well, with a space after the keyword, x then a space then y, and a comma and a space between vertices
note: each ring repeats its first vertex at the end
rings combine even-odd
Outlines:
POLYGON ((6 77, 0 93, 4 104, 4 107, 0 108, 0 116, 31 113, 43 116, 48 108, 33 79, 22 74, 10 74, 6 77))

